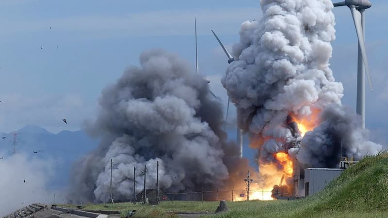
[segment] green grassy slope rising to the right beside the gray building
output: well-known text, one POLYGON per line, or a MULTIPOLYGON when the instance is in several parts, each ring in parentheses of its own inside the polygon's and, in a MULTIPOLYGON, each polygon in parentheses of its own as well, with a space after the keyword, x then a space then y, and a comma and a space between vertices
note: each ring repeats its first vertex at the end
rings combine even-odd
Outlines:
POLYGON ((237 204, 216 217, 388 217, 388 153, 363 158, 303 200, 237 204))

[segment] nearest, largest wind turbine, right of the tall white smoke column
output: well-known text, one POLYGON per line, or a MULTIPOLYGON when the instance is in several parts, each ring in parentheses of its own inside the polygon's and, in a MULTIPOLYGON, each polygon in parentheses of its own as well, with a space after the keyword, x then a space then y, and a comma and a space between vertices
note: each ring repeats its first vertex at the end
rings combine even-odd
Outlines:
POLYGON ((372 7, 369 0, 345 0, 334 3, 334 7, 348 6, 352 13, 358 38, 358 65, 357 65, 357 114, 361 116, 362 127, 365 127, 365 71, 372 90, 372 79, 369 72, 368 58, 365 48, 365 9, 372 7))

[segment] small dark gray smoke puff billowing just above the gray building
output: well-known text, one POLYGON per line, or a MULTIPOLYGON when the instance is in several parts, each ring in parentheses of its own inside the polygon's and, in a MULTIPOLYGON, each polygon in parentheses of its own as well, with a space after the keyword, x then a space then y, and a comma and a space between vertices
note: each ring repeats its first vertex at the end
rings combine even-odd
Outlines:
POLYGON ((368 130, 361 127, 361 119, 352 109, 328 105, 320 120, 320 125, 306 133, 296 156, 306 167, 335 168, 341 152, 357 160, 381 150, 381 146, 366 140, 368 130))

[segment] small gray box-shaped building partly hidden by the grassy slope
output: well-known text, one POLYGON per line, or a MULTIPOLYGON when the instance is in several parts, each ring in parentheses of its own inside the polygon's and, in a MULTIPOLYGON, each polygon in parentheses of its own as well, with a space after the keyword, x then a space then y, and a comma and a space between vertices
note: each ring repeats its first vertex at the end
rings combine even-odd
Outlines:
POLYGON ((313 195, 332 181, 339 177, 343 170, 328 168, 307 168, 305 169, 305 195, 313 195))

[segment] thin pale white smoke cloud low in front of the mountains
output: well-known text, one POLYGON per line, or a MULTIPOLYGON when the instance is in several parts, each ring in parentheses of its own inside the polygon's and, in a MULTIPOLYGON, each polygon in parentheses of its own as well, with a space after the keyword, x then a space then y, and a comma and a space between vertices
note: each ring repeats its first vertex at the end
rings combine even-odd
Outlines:
POLYGON ((46 189, 49 177, 53 176, 50 161, 27 158, 24 154, 0 156, 1 217, 32 203, 53 201, 55 192, 46 189))

